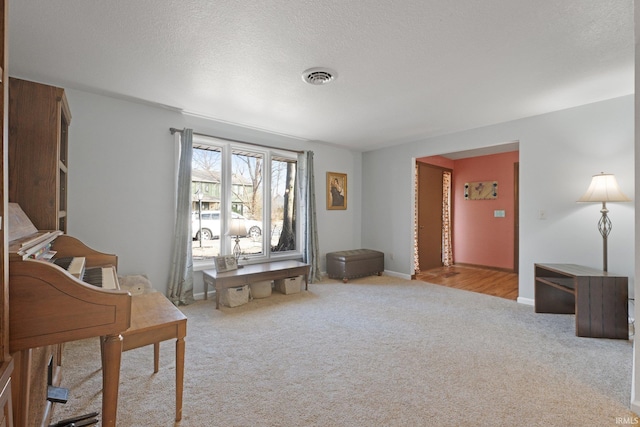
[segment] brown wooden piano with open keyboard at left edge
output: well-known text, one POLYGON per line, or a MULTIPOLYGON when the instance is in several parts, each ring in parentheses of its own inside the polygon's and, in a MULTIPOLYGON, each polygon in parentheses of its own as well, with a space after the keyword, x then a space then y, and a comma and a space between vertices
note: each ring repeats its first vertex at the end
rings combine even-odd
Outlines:
POLYGON ((102 426, 115 426, 120 334, 131 324, 131 295, 119 289, 117 256, 60 231, 37 230, 15 203, 9 203, 9 240, 9 350, 17 359, 19 383, 16 425, 27 425, 33 412, 30 396, 38 393, 31 390, 33 350, 101 337, 102 426))

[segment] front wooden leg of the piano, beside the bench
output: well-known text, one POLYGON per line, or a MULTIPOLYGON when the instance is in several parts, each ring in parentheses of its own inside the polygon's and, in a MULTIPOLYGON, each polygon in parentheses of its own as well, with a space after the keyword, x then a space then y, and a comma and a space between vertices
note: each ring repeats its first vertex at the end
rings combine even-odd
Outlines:
POLYGON ((103 341, 102 426, 115 427, 122 360, 122 335, 107 335, 103 341))

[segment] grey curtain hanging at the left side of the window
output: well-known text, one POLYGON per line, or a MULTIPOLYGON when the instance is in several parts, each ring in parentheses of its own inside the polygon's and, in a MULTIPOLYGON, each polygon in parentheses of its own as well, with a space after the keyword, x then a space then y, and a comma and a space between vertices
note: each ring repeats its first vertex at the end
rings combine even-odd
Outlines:
POLYGON ((175 304, 190 304, 193 299, 193 259, 191 256, 191 158, 193 129, 180 135, 180 162, 176 199, 176 225, 173 256, 169 273, 168 297, 175 304))

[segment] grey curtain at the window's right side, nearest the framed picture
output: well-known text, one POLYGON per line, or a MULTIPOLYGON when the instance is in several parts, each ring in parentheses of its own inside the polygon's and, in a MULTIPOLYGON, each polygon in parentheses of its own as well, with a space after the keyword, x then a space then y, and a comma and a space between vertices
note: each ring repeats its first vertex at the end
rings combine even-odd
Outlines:
POLYGON ((319 281, 320 274, 320 249, 318 246, 318 227, 316 223, 316 190, 313 172, 313 151, 307 151, 298 155, 298 170, 301 179, 298 180, 300 190, 302 238, 302 260, 311 265, 309 281, 319 281))

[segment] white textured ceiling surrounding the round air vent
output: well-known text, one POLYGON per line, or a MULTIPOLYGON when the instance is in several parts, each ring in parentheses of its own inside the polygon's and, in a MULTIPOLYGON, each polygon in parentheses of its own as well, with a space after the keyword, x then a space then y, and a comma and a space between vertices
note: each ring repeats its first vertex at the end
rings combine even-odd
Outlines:
POLYGON ((12 76, 363 151, 634 90, 632 0, 12 0, 9 37, 12 76))

